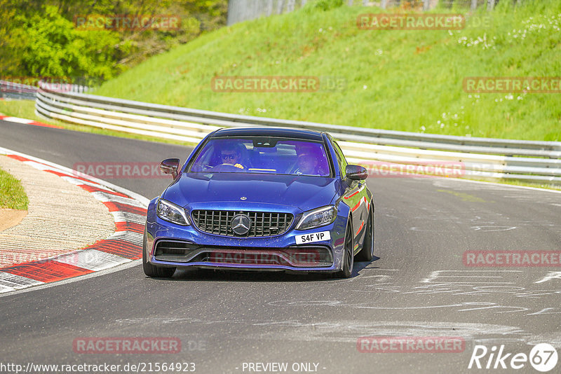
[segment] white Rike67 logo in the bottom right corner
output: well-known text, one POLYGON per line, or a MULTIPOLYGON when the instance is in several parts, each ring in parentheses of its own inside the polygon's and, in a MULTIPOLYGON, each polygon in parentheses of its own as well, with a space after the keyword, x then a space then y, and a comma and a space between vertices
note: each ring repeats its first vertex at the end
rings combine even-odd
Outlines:
POLYGON ((504 345, 497 351, 494 345, 491 349, 485 345, 475 345, 469 360, 468 369, 521 369, 530 364, 534 369, 546 373, 557 365, 557 350, 548 343, 534 345, 529 356, 525 353, 506 353, 504 345))

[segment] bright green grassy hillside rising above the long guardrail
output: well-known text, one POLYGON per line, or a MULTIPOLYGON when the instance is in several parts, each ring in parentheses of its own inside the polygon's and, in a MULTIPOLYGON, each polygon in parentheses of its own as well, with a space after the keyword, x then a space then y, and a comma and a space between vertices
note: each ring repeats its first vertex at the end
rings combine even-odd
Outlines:
POLYGON ((323 11, 310 4, 201 36, 95 93, 339 125, 560 141, 561 94, 473 95, 462 88, 468 76, 561 76, 561 1, 525 4, 513 8, 501 1, 457 31, 363 30, 357 16, 382 11, 358 6, 323 11), (488 27, 473 23, 483 17, 490 17, 488 27), (211 89, 214 76, 269 75, 332 76, 346 85, 309 93, 211 89))

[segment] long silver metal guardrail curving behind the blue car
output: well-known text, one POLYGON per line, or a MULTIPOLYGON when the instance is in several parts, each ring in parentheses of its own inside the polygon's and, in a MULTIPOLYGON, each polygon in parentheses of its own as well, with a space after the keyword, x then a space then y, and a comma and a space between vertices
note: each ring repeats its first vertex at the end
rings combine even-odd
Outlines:
POLYGON ((149 104, 41 88, 36 112, 46 118, 198 143, 221 127, 280 126, 328 131, 350 162, 388 165, 461 163, 471 179, 518 179, 561 185, 561 142, 456 137, 280 120, 149 104))

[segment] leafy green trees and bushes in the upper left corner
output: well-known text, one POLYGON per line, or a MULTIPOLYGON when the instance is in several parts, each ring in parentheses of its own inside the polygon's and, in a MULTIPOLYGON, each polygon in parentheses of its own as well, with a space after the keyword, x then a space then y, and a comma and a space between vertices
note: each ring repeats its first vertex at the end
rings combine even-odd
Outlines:
POLYGON ((0 0, 0 78, 96 85, 226 23, 227 0, 0 0), (76 15, 170 14, 179 30, 78 30, 76 15))

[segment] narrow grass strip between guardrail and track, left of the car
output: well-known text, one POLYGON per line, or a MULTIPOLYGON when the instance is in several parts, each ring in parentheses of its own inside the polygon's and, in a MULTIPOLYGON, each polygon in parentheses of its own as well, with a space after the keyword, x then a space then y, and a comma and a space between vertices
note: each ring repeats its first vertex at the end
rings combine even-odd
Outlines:
POLYGON ((107 135, 111 137, 123 137, 123 138, 137 139, 137 140, 144 140, 144 141, 159 141, 161 143, 169 143, 169 144, 180 144, 180 145, 191 145, 191 146, 194 145, 193 143, 189 143, 185 141, 175 141, 175 140, 165 141, 163 139, 156 138, 156 137, 147 137, 146 135, 131 134, 128 132, 118 132, 113 130, 104 130, 98 127, 77 125, 74 123, 66 123, 58 120, 46 120, 43 117, 36 116, 35 102, 33 100, 0 100, 0 114, 3 114, 4 116, 12 116, 12 117, 26 118, 29 120, 36 120, 41 123, 48 123, 49 125, 59 126, 65 128, 66 130, 90 132, 92 134, 107 135))

